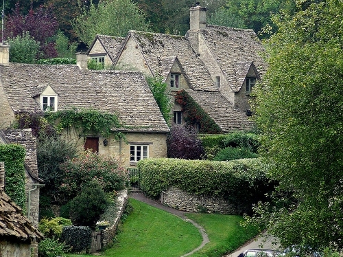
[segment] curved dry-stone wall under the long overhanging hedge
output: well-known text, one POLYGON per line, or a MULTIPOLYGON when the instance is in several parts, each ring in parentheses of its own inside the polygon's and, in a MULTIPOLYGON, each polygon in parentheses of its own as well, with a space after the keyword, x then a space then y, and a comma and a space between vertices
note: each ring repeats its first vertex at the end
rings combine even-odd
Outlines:
POLYGON ((161 194, 161 203, 184 212, 241 214, 235 205, 220 197, 189 194, 173 187, 161 194))

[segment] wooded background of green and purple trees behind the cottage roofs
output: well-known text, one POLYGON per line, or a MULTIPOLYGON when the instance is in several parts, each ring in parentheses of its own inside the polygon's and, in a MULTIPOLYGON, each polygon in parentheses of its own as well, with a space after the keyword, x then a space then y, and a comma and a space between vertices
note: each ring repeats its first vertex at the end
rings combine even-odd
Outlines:
MULTIPOLYGON (((2 41, 34 45, 38 54, 27 63, 41 58, 75 58, 75 52, 86 50, 96 34, 126 36, 128 30, 143 30, 185 35, 189 30, 189 8, 196 2, 4 0, 2 41)), ((275 31, 272 14, 296 9, 295 1, 289 0, 204 0, 200 5, 207 9, 209 24, 251 28, 261 39, 275 31)))

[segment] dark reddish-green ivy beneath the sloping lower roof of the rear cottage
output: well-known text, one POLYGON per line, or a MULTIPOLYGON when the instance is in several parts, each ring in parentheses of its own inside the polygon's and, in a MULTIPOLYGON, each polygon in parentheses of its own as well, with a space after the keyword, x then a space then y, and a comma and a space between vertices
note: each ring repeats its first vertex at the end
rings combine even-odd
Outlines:
POLYGON ((175 101, 185 113, 185 122, 189 125, 200 124, 200 133, 218 134, 222 129, 185 90, 176 92, 175 101))

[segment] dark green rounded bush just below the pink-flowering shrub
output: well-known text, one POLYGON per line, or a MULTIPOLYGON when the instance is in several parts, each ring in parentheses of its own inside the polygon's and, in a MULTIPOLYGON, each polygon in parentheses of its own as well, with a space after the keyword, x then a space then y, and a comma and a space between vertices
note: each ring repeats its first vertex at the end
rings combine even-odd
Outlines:
POLYGON ((80 194, 70 204, 70 216, 73 225, 95 227, 110 200, 97 181, 86 184, 80 194))

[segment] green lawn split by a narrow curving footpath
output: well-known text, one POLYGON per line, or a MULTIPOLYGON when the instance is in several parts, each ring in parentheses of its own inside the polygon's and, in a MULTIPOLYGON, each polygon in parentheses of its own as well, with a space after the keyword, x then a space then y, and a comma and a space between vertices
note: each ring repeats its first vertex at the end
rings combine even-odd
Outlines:
MULTIPOLYGON (((102 256, 115 257, 180 257, 202 243, 198 229, 178 216, 130 199, 133 211, 121 227, 117 241, 102 256)), ((205 228, 210 243, 192 257, 222 256, 251 238, 254 233, 239 226, 241 216, 220 214, 187 214, 205 228)), ((69 257, 89 255, 69 254, 69 257)))

